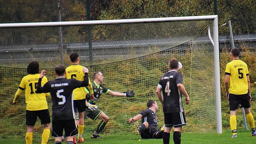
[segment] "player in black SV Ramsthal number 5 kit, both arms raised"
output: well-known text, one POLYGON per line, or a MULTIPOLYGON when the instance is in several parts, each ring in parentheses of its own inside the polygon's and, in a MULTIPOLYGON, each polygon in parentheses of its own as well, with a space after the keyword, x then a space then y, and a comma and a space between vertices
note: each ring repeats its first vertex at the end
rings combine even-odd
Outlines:
MULTIPOLYGON (((52 97, 52 136, 55 137, 55 144, 61 144, 63 129, 67 136, 67 144, 74 144, 73 136, 77 134, 75 124, 75 113, 73 107, 72 92, 78 87, 85 87, 89 84, 88 69, 83 67, 84 81, 76 79, 65 79, 65 67, 57 65, 54 74, 55 80, 48 81, 41 87, 41 81, 45 75, 45 70, 42 70, 38 83, 36 93, 50 92, 52 97)), ((97 108, 85 101, 88 108, 94 110, 97 108)))

